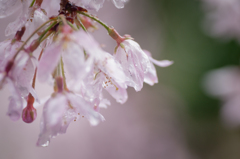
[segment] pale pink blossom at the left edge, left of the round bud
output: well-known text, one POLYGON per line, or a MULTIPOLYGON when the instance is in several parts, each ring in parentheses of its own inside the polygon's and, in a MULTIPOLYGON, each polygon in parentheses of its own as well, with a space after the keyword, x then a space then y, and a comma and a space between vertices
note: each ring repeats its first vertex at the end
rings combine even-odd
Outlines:
POLYGON ((35 90, 32 88, 31 81, 34 74, 33 61, 24 52, 20 53, 14 63, 7 64, 5 70, 1 72, 1 85, 6 83, 9 86, 11 96, 9 97, 8 115, 12 120, 18 120, 21 117, 23 110, 23 100, 31 93, 36 100, 38 97, 35 90), (12 66, 9 66, 12 65, 12 66))

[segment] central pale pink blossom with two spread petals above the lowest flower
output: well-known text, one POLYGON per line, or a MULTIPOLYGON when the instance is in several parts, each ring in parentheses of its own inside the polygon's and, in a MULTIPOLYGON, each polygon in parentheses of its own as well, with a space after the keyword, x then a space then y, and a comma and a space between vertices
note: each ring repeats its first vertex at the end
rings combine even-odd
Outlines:
MULTIPOLYGON (((83 31, 73 32, 69 26, 63 27, 62 33, 59 34, 52 45, 45 50, 40 60, 38 78, 41 82, 45 82, 51 78, 51 74, 59 63, 61 56, 72 78, 81 80, 87 76, 91 70, 93 60, 92 58, 86 59, 85 57, 84 49, 88 46, 81 43, 81 41, 87 41, 88 35, 81 32, 83 31), (84 40, 78 40, 79 37, 82 37, 84 40)), ((95 53, 98 52, 98 50, 92 49, 90 49, 90 51, 87 49, 87 51, 90 54, 93 51, 96 51, 95 53)))

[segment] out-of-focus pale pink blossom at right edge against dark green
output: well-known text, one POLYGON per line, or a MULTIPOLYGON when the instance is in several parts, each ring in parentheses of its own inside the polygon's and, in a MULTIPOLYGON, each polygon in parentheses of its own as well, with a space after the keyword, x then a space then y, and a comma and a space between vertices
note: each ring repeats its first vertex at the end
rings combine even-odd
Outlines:
POLYGON ((240 126, 240 69, 228 66, 209 72, 204 78, 204 88, 222 102, 221 116, 228 127, 240 126))

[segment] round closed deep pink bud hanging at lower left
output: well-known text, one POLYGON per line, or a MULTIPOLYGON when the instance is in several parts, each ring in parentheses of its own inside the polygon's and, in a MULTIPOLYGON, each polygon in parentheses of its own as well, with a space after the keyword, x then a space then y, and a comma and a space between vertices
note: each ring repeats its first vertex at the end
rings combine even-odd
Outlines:
POLYGON ((23 109, 22 119, 25 123, 33 122, 37 117, 37 110, 33 106, 27 106, 23 109))

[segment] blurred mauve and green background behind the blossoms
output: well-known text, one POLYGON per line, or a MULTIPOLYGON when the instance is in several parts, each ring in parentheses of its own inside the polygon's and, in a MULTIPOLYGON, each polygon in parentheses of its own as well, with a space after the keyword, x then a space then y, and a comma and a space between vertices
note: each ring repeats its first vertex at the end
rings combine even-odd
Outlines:
MULTIPOLYGON (((221 119, 221 102, 208 96, 204 75, 216 68, 239 64, 239 44, 206 33, 205 10, 200 0, 130 0, 124 9, 110 2, 97 13, 120 34, 130 34, 155 59, 174 65, 157 68, 159 83, 144 85, 140 92, 128 89, 128 101, 114 100, 101 110, 106 121, 92 127, 86 120, 74 122, 64 135, 46 148, 35 146, 38 118, 32 124, 12 122, 8 116, 7 88, 0 91, 0 159, 239 159, 240 131, 227 128, 221 119)), ((19 13, 0 19, 0 40, 19 13)), ((105 50, 115 42, 99 26, 94 36, 105 50)), ((40 97, 51 93, 37 84, 40 97)), ((239 114, 240 115, 240 114, 239 114)))

